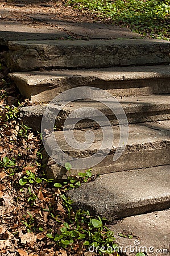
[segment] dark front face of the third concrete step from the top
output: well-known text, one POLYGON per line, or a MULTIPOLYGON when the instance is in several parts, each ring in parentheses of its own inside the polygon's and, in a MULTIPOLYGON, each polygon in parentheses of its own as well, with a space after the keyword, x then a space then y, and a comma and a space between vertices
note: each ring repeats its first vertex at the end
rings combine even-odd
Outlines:
MULTIPOLYGON (((24 125, 27 127, 31 127, 34 131, 40 131, 41 130, 41 122, 43 113, 45 111, 42 107, 39 110, 36 110, 38 106, 34 107, 26 107, 20 109, 20 117, 23 120, 24 125)), ((146 106, 138 108, 136 106, 131 106, 124 108, 128 123, 140 123, 140 122, 155 122, 155 121, 163 121, 168 120, 170 118, 170 105, 161 105, 161 106, 146 106)), ((108 110, 101 110, 103 114, 106 115, 106 117, 109 119, 111 125, 118 125, 118 119, 113 114, 108 114, 108 110)), ((54 112, 55 113, 55 112, 54 112)), ((57 129, 63 129, 63 125, 65 122, 65 119, 70 114, 70 111, 63 111, 60 112, 57 116, 55 126, 57 129)), ((93 117, 95 119, 99 119, 99 117, 93 117)), ((64 126, 65 129, 72 129, 72 123, 76 124, 76 129, 84 129, 84 128, 90 128, 90 127, 98 127, 97 123, 92 120, 92 118, 89 117, 89 119, 82 119, 78 122, 78 119, 74 118, 70 120, 70 125, 64 126)), ((102 126, 105 126, 105 123, 102 123, 102 126)))

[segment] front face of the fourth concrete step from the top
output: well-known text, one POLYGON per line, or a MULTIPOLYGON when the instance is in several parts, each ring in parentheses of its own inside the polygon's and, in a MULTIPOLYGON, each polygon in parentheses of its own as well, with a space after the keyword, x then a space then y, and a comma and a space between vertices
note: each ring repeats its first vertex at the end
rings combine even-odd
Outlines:
MULTIPOLYGON (((116 162, 113 162, 113 155, 107 155, 101 163, 93 167, 93 174, 109 174, 110 172, 170 164, 169 151, 170 142, 161 142, 155 145, 151 145, 151 143, 145 143, 143 146, 135 145, 126 148, 122 156, 116 162), (140 150, 138 150, 138 146, 140 150)), ((66 178, 64 168, 60 167, 57 163, 51 164, 51 160, 49 160, 47 164, 46 171, 50 178, 66 178)), ((72 175, 77 175, 78 172, 80 172, 80 170, 72 170, 72 175)))

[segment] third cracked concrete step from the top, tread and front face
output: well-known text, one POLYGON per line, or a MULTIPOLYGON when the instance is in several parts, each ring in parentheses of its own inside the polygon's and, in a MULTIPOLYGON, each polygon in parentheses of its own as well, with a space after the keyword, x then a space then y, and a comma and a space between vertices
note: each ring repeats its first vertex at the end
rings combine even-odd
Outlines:
MULTIPOLYGON (((170 119, 170 94, 163 95, 152 95, 152 96, 138 96, 138 97, 123 97, 117 98, 120 104, 122 105, 123 110, 125 111, 128 119, 128 123, 138 123, 138 122, 151 122, 151 121, 163 121, 170 119)), ((109 99, 107 99, 109 101, 109 99)), ((107 100, 103 101, 107 104, 107 100)), ((113 100, 113 99, 111 99, 113 100)), ((113 106, 114 102, 113 102, 113 106)), ((71 114, 74 110, 80 108, 93 108, 101 111, 109 119, 111 125, 118 125, 118 120, 115 117, 114 113, 106 105, 103 105, 101 102, 92 101, 92 100, 81 100, 74 101, 66 106, 56 106, 51 105, 51 113, 48 117, 53 118, 53 114, 57 110, 60 110, 55 125, 57 129, 63 129, 65 119, 71 114)), ((24 108, 20 108, 20 117, 23 120, 23 123, 28 127, 31 127, 34 131, 40 131, 40 126, 42 122, 42 117, 47 104, 41 105, 32 105, 24 108)), ((94 118, 97 118, 97 115, 90 111, 89 109, 80 110, 80 116, 83 118, 80 121, 76 117, 70 119, 69 124, 65 129, 71 129, 72 123, 76 123, 77 129, 83 129, 88 127, 98 126, 94 118)), ((105 125, 103 123, 103 125, 105 125)))

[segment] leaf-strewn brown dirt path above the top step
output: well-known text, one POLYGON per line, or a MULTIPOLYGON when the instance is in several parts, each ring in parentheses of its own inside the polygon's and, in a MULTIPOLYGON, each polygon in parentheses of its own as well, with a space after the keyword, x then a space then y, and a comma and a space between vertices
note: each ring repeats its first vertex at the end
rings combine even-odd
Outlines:
POLYGON ((141 37, 129 28, 113 26, 109 19, 75 10, 61 1, 0 2, 0 20, 0 42, 141 37))

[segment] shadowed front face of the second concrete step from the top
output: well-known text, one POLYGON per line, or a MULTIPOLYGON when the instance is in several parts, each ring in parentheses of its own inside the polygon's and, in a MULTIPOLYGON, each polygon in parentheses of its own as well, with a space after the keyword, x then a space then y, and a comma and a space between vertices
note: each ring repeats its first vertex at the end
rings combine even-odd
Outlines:
POLYGON ((49 102, 53 100, 57 95, 65 90, 75 88, 77 86, 93 86, 103 90, 107 90, 113 96, 141 96, 148 94, 165 94, 170 93, 169 79, 152 79, 152 80, 134 80, 134 81, 88 81, 90 79, 80 78, 68 80, 60 79, 51 84, 41 84, 41 86, 30 86, 25 81, 19 80, 17 77, 12 76, 12 80, 15 82, 20 93, 29 98, 32 103, 34 102, 49 102))

